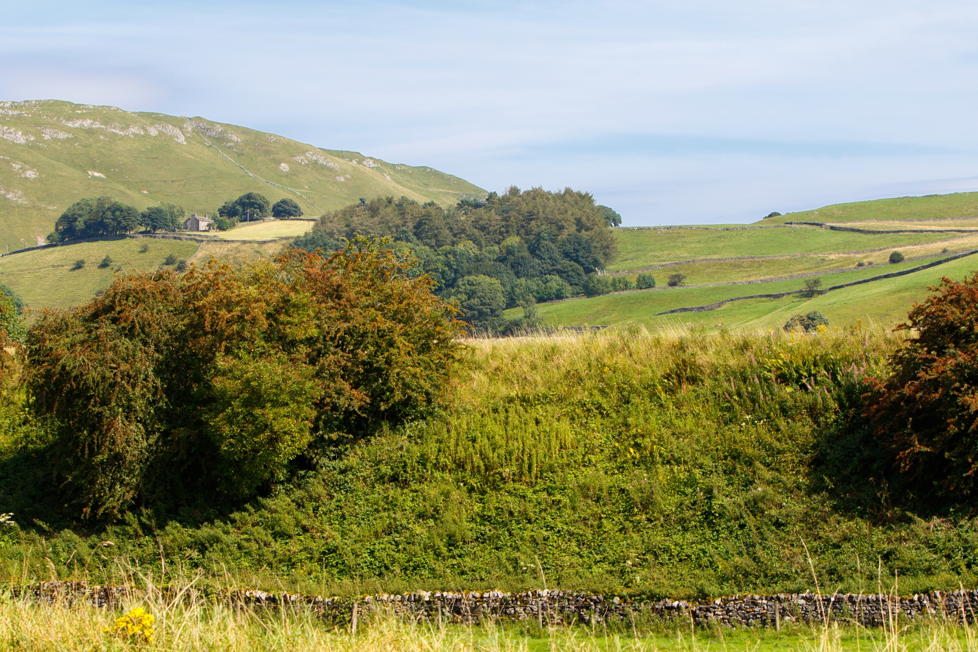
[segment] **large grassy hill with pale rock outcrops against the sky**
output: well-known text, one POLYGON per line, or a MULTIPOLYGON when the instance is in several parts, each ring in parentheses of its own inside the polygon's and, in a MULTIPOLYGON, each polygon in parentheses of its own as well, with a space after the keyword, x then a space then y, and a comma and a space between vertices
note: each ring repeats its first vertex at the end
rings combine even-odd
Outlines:
POLYGON ((258 192, 295 199, 312 216, 359 197, 454 204, 485 192, 434 170, 323 150, 201 117, 57 101, 0 103, 0 251, 32 246, 83 196, 140 209, 173 201, 213 213, 258 192))

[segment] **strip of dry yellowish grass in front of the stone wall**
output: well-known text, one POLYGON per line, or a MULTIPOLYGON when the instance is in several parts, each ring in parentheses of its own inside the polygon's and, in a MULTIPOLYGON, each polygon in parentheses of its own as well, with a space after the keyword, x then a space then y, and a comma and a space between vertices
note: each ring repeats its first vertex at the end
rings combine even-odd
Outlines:
POLYGON ((193 596, 166 600, 152 592, 119 608, 65 603, 33 604, 0 600, 0 650, 110 651, 164 649, 283 650, 305 652, 975 652, 971 626, 943 619, 867 630, 858 626, 813 623, 782 630, 690 629, 689 623, 611 622, 539 627, 483 620, 476 625, 410 623, 389 613, 362 612, 352 623, 335 623, 303 607, 254 610, 193 596), (153 616, 151 642, 112 634, 115 620, 130 609, 153 616))

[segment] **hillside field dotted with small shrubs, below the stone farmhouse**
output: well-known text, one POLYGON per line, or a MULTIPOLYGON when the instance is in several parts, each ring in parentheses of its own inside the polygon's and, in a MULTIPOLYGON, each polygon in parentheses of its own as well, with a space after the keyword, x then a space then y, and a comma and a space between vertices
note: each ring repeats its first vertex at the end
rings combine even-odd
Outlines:
POLYGON ((199 246, 190 240, 124 238, 25 251, 0 258, 0 283, 19 293, 29 308, 67 308, 108 287, 119 268, 156 269, 169 254, 187 260, 199 246), (146 252, 140 251, 143 246, 146 252), (107 254, 111 265, 99 267, 107 254), (85 266, 72 269, 79 259, 85 266))

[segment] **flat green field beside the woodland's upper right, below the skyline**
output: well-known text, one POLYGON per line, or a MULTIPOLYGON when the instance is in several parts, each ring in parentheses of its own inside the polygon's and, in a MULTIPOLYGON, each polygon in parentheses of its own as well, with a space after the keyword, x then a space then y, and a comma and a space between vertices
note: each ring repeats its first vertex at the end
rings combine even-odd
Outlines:
POLYGON ((618 258, 608 265, 609 272, 639 270, 694 258, 846 253, 940 240, 953 241, 947 234, 868 235, 808 227, 742 231, 617 229, 615 238, 618 258))

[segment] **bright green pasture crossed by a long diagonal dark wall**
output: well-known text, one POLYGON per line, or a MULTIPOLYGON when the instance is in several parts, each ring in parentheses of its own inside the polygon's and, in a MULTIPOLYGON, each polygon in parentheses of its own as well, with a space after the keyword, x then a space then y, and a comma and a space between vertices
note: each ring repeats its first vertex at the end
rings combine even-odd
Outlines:
MULTIPOLYGON (((826 275, 822 279, 822 286, 851 283, 911 269, 926 262, 929 261, 904 262, 887 265, 885 268, 826 275)), ((666 310, 706 305, 735 296, 800 289, 804 282, 795 280, 709 287, 659 287, 542 304, 538 306, 538 310, 547 324, 559 326, 620 326, 628 323, 669 326, 691 323, 711 327, 723 324, 735 328, 768 328, 783 324, 791 315, 811 310, 821 310, 833 325, 844 326, 864 318, 887 326, 890 322, 904 319, 913 301, 920 300, 926 294, 928 285, 938 283, 945 275, 959 279, 976 267, 978 258, 969 256, 904 277, 833 290, 812 299, 791 295, 780 299, 735 301, 705 313, 656 316, 656 313, 666 310)), ((517 317, 520 314, 519 308, 507 312, 508 317, 517 317)))

